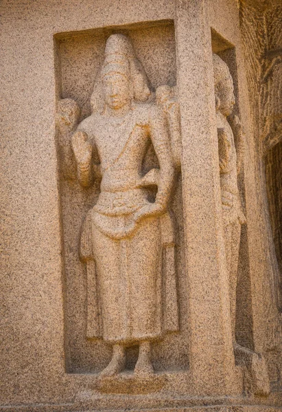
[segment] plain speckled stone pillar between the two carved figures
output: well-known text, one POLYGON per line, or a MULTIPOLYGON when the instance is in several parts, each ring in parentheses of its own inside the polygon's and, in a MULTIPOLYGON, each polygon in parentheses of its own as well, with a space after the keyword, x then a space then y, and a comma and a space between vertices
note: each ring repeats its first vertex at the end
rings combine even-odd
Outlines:
POLYGON ((190 367, 194 391, 201 396, 236 391, 209 26, 203 0, 177 1, 190 367))

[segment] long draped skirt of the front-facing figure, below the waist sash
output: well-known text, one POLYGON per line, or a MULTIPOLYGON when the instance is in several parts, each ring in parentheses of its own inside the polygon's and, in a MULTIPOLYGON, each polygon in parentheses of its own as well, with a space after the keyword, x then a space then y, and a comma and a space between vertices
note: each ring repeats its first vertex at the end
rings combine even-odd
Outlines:
MULTIPOLYGON (((179 330, 174 225, 169 212, 145 218, 129 238, 113 240, 86 215, 80 258, 86 262, 89 339, 134 344, 179 330)), ((104 216, 103 216, 104 217, 104 216)), ((126 225, 130 215, 106 216, 126 225)))

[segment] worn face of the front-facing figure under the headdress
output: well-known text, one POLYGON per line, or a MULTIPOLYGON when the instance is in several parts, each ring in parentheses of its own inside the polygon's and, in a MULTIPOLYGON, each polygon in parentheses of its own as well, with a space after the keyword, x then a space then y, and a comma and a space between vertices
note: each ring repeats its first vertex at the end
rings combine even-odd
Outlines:
POLYGON ((128 78, 119 73, 109 73, 103 79, 104 97, 108 107, 119 109, 130 102, 128 78))

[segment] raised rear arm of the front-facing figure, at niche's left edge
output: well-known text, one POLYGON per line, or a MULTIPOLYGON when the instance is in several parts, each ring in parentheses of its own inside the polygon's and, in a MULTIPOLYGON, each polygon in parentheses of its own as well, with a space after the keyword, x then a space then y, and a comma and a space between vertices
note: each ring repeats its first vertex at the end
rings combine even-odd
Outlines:
POLYGON ((58 127, 58 146, 60 154, 60 169, 65 179, 75 179, 75 162, 71 147, 71 136, 78 126, 80 108, 72 99, 62 99, 58 102, 56 125, 58 127))

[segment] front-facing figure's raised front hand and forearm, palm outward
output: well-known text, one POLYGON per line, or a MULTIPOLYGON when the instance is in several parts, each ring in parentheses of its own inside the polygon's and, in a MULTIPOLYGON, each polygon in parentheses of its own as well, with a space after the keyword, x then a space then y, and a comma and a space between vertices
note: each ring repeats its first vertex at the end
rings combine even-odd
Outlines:
POLYGON ((78 170, 78 181, 84 187, 89 187, 93 181, 92 145, 86 132, 78 130, 71 137, 71 146, 78 170))

